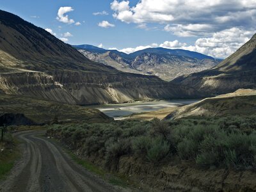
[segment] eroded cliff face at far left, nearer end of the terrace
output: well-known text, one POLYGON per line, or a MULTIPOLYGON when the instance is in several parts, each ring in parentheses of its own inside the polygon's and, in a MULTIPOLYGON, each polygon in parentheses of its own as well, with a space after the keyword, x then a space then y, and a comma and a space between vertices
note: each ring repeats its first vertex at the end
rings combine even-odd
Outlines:
POLYGON ((63 88, 62 84, 54 81, 52 76, 42 72, 0 74, 0 90, 11 95, 27 95, 76 104, 76 99, 63 88))

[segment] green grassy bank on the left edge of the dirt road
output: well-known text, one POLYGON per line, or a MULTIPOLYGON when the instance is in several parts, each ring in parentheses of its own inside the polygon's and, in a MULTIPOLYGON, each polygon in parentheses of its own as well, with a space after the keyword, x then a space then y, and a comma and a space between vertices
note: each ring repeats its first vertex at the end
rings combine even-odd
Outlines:
POLYGON ((4 141, 0 142, 0 180, 12 170, 13 165, 20 157, 20 151, 17 147, 18 141, 13 139, 11 134, 4 136, 4 141))

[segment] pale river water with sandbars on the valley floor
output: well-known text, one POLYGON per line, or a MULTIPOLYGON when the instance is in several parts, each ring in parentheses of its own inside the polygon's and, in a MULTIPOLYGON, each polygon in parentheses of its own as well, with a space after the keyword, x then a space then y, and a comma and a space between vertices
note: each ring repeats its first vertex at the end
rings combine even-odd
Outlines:
POLYGON ((156 111, 158 109, 184 106, 197 102, 198 100, 159 100, 150 102, 132 102, 124 104, 104 104, 98 106, 91 106, 99 109, 103 113, 113 118, 120 118, 122 116, 131 115, 132 113, 143 113, 148 111, 156 111))

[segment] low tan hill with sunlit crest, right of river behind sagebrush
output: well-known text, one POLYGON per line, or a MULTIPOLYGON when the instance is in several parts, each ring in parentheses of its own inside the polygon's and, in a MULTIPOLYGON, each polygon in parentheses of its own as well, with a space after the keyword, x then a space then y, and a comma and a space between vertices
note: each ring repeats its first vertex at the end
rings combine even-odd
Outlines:
POLYGON ((165 119, 195 116, 250 116, 255 115, 255 108, 256 90, 239 89, 234 93, 218 95, 180 107, 165 119))

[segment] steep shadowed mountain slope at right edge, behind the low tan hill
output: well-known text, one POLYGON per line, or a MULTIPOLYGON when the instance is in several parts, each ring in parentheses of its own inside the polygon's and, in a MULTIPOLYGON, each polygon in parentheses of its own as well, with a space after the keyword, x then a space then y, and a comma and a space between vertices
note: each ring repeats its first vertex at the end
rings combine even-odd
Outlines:
POLYGON ((173 79, 208 95, 230 93, 239 88, 256 88, 256 34, 216 67, 173 79))

